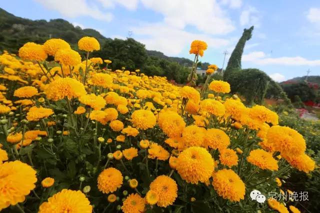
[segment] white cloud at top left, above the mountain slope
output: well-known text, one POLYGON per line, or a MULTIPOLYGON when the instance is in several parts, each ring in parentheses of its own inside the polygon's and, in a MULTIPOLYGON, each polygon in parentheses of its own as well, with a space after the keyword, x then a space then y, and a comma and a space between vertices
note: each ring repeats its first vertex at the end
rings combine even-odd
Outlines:
POLYGON ((96 5, 88 4, 86 0, 36 0, 48 9, 57 10, 70 18, 77 16, 90 16, 104 21, 111 21, 112 14, 102 12, 96 5))

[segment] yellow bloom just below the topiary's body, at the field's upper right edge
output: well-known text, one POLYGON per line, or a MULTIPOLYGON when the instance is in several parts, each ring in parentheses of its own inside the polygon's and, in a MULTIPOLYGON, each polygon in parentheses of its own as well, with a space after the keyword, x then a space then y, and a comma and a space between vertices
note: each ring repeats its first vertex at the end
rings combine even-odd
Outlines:
POLYGON ((259 120, 261 122, 271 123, 272 125, 278 124, 278 115, 264 106, 253 106, 249 109, 249 116, 252 119, 259 120))

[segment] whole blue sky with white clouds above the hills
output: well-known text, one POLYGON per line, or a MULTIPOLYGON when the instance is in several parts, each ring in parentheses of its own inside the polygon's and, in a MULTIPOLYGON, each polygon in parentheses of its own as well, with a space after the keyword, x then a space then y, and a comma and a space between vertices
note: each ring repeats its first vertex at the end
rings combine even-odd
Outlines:
POLYGON ((222 66, 243 28, 254 25, 242 68, 259 68, 282 81, 320 75, 318 0, 1 0, 0 7, 29 19, 63 18, 106 37, 131 37, 147 49, 192 59, 192 40, 208 44, 201 61, 222 66))

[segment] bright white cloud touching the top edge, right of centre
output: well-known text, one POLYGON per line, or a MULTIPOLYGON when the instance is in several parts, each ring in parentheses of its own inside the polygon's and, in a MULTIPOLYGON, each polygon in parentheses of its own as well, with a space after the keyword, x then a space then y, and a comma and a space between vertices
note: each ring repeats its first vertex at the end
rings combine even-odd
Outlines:
POLYGON ((216 0, 141 0, 142 4, 163 15, 163 22, 183 29, 195 26, 209 34, 225 34, 234 26, 216 0))

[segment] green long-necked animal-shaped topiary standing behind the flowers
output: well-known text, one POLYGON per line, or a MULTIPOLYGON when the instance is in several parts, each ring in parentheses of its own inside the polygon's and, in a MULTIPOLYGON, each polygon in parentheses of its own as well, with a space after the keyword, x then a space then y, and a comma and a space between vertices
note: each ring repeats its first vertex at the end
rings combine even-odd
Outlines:
POLYGON ((282 88, 263 71, 255 68, 241 69, 241 57, 245 42, 252 36, 253 26, 244 29, 242 36, 231 53, 228 64, 223 73, 223 80, 230 84, 231 92, 242 95, 246 103, 262 104, 267 90, 272 91, 274 98, 281 98, 291 106, 290 100, 282 88))

